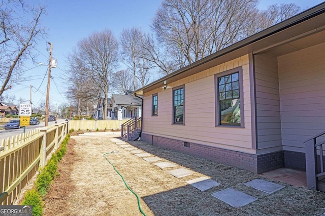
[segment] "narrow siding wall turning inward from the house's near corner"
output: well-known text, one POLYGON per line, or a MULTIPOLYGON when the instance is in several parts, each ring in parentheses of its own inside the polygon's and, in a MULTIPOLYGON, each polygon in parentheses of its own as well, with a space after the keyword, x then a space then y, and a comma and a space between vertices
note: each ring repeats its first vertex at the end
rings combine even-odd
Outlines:
POLYGON ((257 150, 268 153, 282 149, 277 58, 254 55, 256 84, 257 150))

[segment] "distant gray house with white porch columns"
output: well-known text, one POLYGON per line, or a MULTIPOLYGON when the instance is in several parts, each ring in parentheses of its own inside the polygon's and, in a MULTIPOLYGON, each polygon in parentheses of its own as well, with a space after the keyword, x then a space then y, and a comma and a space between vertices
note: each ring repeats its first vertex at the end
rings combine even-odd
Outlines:
POLYGON ((113 94, 110 107, 113 109, 112 119, 125 119, 132 117, 141 117, 142 99, 132 95, 113 94))

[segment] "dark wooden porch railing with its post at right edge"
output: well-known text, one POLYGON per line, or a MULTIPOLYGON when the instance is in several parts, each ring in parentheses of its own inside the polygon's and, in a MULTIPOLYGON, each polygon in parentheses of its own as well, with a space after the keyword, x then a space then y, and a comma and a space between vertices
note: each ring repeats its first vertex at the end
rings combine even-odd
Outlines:
POLYGON ((318 182, 325 177, 324 171, 324 152, 323 145, 325 144, 325 131, 321 132, 312 138, 306 140, 306 177, 307 187, 318 190, 318 182))

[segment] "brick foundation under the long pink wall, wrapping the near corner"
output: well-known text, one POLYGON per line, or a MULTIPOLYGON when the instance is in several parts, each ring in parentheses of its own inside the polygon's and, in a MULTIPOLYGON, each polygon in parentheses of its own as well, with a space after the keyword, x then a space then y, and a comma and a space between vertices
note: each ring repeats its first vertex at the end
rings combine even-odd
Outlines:
POLYGON ((144 133, 141 134, 141 140, 154 146, 232 165, 254 172, 255 174, 284 166, 283 151, 254 155, 196 143, 184 143, 181 140, 151 136, 144 133))

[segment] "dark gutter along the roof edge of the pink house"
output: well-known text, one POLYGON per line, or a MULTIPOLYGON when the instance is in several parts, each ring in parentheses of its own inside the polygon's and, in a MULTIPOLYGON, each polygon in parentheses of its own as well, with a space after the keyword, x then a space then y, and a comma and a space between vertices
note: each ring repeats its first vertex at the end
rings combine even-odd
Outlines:
POLYGON ((319 14, 322 14, 325 12, 325 3, 321 3, 319 5, 316 5, 315 7, 311 8, 311 9, 308 9, 307 11, 304 11, 304 12, 301 12, 300 14, 297 14, 296 16, 294 17, 291 17, 285 21, 282 21, 274 26, 271 26, 263 31, 260 31, 256 34, 253 34, 243 40, 240 40, 238 42, 236 42, 235 44, 229 46, 229 47, 226 47, 210 56, 207 56, 197 62, 194 62, 188 66, 185 66, 169 75, 166 75, 160 79, 157 79, 156 81, 153 81, 151 82, 150 84, 146 85, 145 87, 139 89, 139 90, 136 90, 133 92, 133 94, 136 94, 138 92, 141 92, 149 87, 152 87, 153 85, 156 85, 160 82, 163 82, 164 80, 167 80, 169 78, 172 78, 174 76, 177 76, 178 74, 181 74, 183 72, 186 72, 190 69, 193 69, 195 67, 198 67, 200 65, 203 65, 211 60, 214 60, 220 56, 223 56, 225 54, 228 54, 228 53, 231 53, 235 50, 238 50, 240 48, 243 48, 247 45, 250 45, 250 44, 253 44, 254 42, 258 41, 258 40, 261 40, 263 38, 266 38, 270 35, 273 35, 273 34, 276 34, 277 32, 280 32, 280 31, 283 31, 284 29, 287 29, 291 26, 294 26, 294 25, 297 25, 299 23, 302 23, 308 19, 311 19, 319 14))

